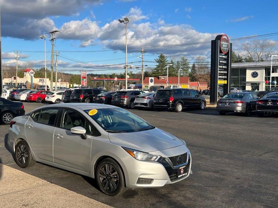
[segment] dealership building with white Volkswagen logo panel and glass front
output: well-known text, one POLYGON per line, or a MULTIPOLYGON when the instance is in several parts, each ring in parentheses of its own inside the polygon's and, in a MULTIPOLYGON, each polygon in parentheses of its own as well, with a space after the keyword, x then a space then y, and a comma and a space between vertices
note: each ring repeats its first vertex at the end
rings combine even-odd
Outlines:
POLYGON ((278 61, 272 62, 272 71, 270 67, 271 61, 232 63, 231 87, 264 91, 278 86, 278 61))

